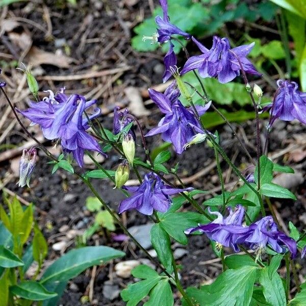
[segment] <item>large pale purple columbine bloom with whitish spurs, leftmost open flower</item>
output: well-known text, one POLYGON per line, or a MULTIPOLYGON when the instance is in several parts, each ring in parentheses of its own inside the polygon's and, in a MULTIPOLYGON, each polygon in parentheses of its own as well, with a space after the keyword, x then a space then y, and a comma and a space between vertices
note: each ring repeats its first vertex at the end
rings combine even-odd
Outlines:
MULTIPOLYGON (((31 124, 39 124, 45 138, 60 139, 65 152, 72 152, 80 167, 83 166, 85 150, 94 150, 101 154, 98 142, 89 135, 88 119, 83 117, 84 111, 96 100, 86 101, 84 96, 73 94, 69 97, 63 88, 56 95, 49 91, 49 97, 38 103, 30 102, 30 108, 17 110, 24 117, 32 120, 31 124)), ((100 114, 98 108, 89 116, 92 119, 100 114)))

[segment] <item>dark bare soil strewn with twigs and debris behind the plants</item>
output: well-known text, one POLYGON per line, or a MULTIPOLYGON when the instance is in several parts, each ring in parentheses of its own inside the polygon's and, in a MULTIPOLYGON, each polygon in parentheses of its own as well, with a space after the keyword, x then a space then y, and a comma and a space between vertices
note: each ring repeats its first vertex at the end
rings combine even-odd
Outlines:
MULTIPOLYGON (((157 2, 157 1, 155 1, 157 2)), ((130 37, 133 35, 132 30, 126 27, 126 24, 135 22, 137 15, 140 12, 144 12, 144 15, 150 15, 148 2, 141 0, 134 6, 129 7, 123 5, 124 1, 79 1, 78 10, 67 7, 62 1, 54 2, 46 1, 49 7, 49 14, 52 21, 52 34, 57 38, 64 38, 70 48, 70 56, 76 60, 75 65, 69 69, 56 68, 51 65, 43 65, 44 74, 74 74, 80 73, 82 70, 91 68, 97 65, 101 69, 109 69, 120 66, 120 64, 126 64, 132 66, 131 71, 126 71, 120 78, 120 82, 111 85, 111 89, 106 91, 98 99, 98 103, 102 104, 109 110, 111 110, 116 103, 126 105, 127 100, 123 94, 123 89, 127 86, 136 86, 142 88, 148 88, 152 84, 161 83, 162 69, 160 64, 162 57, 157 54, 139 54, 136 53, 130 47, 130 37), (127 23, 122 23, 122 20, 127 23), (124 25, 125 24, 125 25, 124 25), (98 42, 85 43, 84 40, 98 42), (113 46, 109 49, 109 43, 113 43, 113 46)), ((42 23, 42 7, 41 2, 31 2, 31 4, 14 4, 10 6, 10 12, 15 16, 21 16, 31 19, 38 23, 42 23), (32 7, 29 8, 29 6, 32 7)), ((135 23, 136 24, 136 23, 135 23)), ((33 39, 33 45, 49 52, 55 52, 55 46, 53 41, 42 41, 42 33, 36 28, 31 28, 31 35, 33 39)), ((8 52, 7 46, 0 46, 0 52, 8 52)), ((65 82, 65 86, 69 90, 84 90, 89 92, 92 88, 99 83, 106 83, 108 78, 90 79, 80 84, 80 82, 68 81, 65 82)), ((57 88, 63 86, 63 83, 59 82, 45 82, 44 88, 57 88)), ((152 108, 154 111, 155 108, 152 108)), ((132 110, 133 111, 133 110, 132 110)), ((143 118, 143 124, 145 129, 154 126, 158 123, 159 115, 152 115, 149 118, 143 118)), ((111 129, 112 120, 109 117, 103 119, 105 127, 111 129)), ((266 124, 266 122, 265 122, 266 124)), ((242 136, 241 131, 248 137, 250 145, 248 149, 251 152, 252 157, 256 157, 256 151, 254 151, 254 122, 248 121, 241 125, 233 124, 236 132, 239 136, 242 136)), ((265 125, 262 125, 262 131, 264 134, 265 125)), ((226 126, 221 126, 218 129, 220 134, 221 145, 225 148, 230 157, 235 156, 235 152, 238 155, 235 159, 235 164, 241 169, 247 168, 249 161, 240 150, 237 140, 233 137, 231 131, 226 126)), ((299 124, 276 124, 275 129, 271 134, 271 143, 269 151, 276 149, 286 148, 288 140, 292 140, 294 135, 299 133, 306 133, 306 129, 299 124)), ((139 133, 138 133, 139 134, 139 133)), ((139 136, 139 135, 137 135, 139 136)), ((264 135, 262 135, 264 136, 264 135)), ((139 139, 139 137, 138 137, 139 139)), ((10 135, 10 143, 18 144, 22 140, 19 131, 13 131, 10 135)), ((159 136, 155 138, 148 138, 149 148, 154 148, 161 143, 159 136)), ((138 156, 144 158, 141 142, 138 140, 138 156)), ((51 145, 51 144, 50 144, 51 145)), ((202 168, 209 166, 214 160, 214 152, 206 144, 199 144, 187 150, 181 156, 175 155, 172 150, 172 158, 169 161, 169 165, 175 165, 180 163, 179 173, 181 177, 189 177, 197 173, 202 168)), ((288 164, 286 158, 288 155, 279 158, 279 163, 288 164)), ((31 189, 18 188, 13 181, 7 185, 7 188, 16 194, 20 195, 27 201, 35 203, 35 205, 46 214, 37 213, 39 223, 43 228, 45 237, 49 243, 49 260, 57 258, 60 253, 52 249, 52 245, 59 240, 60 228, 64 225, 68 225, 69 230, 84 231, 94 220, 94 216, 86 210, 85 201, 88 196, 91 196, 91 192, 86 186, 82 184, 80 180, 76 180, 73 175, 67 174, 62 170, 58 170, 54 175, 50 175, 51 166, 47 165, 48 160, 40 155, 33 180, 31 183, 31 189)), ((105 160, 103 166, 107 169, 115 169, 119 163, 119 159, 115 157, 112 152, 109 153, 109 158, 105 160)), ((296 165, 295 165, 296 166, 296 165)), ((306 161, 301 160, 297 165, 298 169, 305 174, 306 161)), ((222 169, 224 173, 227 173, 227 165, 222 162, 222 169)), ((84 171, 87 169, 83 169, 84 171)), ((9 165, 3 163, 0 169, 1 176, 4 176, 6 172, 10 171, 9 165)), ((81 172, 82 170, 80 170, 81 172)), ((145 172, 140 171, 143 175, 145 172)), ((228 182, 236 182, 237 177, 232 173, 228 182)), ((136 179, 134 174, 131 174, 130 179, 136 179)), ((101 197, 105 199, 108 205, 114 209, 118 208, 118 203, 123 199, 123 195, 113 190, 106 180, 92 180, 92 183, 101 197)), ((198 189, 211 191, 215 187, 219 186, 218 176, 216 169, 213 169, 207 175, 199 177, 199 179, 192 182, 192 186, 198 189)), ((219 191, 218 191, 219 192, 219 191)), ((303 228, 306 223, 305 209, 306 209, 306 188, 304 184, 296 186, 296 193, 298 194, 298 200, 293 201, 275 201, 277 210, 281 213, 285 224, 292 221, 298 228, 303 228)), ((215 194, 213 192, 212 194, 215 194)), ((211 195, 210 195, 211 196, 211 195)), ((200 200, 200 199, 199 199, 200 200)), ((186 206, 184 209, 192 210, 192 208, 186 206)), ((126 224, 128 227, 133 225, 145 224, 149 221, 143 215, 130 211, 127 214, 126 224)), ((121 233, 117 230, 116 233, 121 233)), ((114 248, 122 249, 123 245, 112 241, 107 238, 105 233, 101 231, 96 234, 94 239, 91 239, 88 243, 94 245, 97 241, 101 245, 109 245, 114 248)), ((71 243, 68 246, 72 248, 77 245, 77 237, 71 239, 71 243)), ((173 247, 177 247, 176 244, 173 247)), ((211 265, 205 265, 203 262, 215 258, 209 241, 204 236, 193 236, 189 239, 189 243, 186 246, 187 254, 177 261, 178 264, 182 264, 183 269, 181 271, 183 286, 198 286, 210 282, 215 278, 221 270, 219 263, 211 265)), ((144 255, 139 252, 135 246, 130 243, 126 249, 126 257, 124 260, 144 258, 144 255), (130 250, 132 249, 132 252, 130 250)), ((115 261, 117 263, 118 261, 115 261)), ((305 267, 299 270, 299 273, 305 275, 305 267)), ((69 286, 61 299, 61 304, 65 306, 77 306, 81 305, 80 299, 84 295, 88 295, 88 284, 91 278, 90 271, 83 273, 82 275, 72 279, 69 286)), ((120 289, 123 289, 127 284, 133 282, 133 278, 122 279, 118 278, 113 270, 112 265, 106 265, 102 269, 98 269, 94 282, 94 300, 97 305, 124 305, 125 303, 117 298, 113 301, 106 299, 102 292, 104 283, 109 279, 113 279, 114 285, 118 285, 120 289)), ((179 295, 177 295, 179 297, 179 295)), ((178 300, 178 298, 176 299, 178 300)), ((87 304, 87 303, 85 303, 87 304)))

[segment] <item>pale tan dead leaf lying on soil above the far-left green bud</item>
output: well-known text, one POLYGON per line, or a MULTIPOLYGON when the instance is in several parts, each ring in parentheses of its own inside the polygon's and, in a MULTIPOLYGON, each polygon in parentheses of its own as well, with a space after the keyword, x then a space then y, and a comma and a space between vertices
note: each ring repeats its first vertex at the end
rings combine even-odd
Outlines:
POLYGON ((64 54, 58 55, 51 52, 46 52, 38 47, 32 46, 27 57, 27 61, 32 63, 33 66, 41 64, 54 65, 61 68, 69 68, 72 58, 64 54))

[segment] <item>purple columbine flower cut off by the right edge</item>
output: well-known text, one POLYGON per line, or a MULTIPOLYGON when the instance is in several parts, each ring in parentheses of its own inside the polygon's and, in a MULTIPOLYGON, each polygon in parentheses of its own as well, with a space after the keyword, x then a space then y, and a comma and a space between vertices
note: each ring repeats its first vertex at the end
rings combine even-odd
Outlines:
POLYGON ((276 118, 284 121, 297 119, 306 124, 306 93, 298 90, 298 85, 291 81, 277 81, 278 89, 270 113, 270 125, 276 118))

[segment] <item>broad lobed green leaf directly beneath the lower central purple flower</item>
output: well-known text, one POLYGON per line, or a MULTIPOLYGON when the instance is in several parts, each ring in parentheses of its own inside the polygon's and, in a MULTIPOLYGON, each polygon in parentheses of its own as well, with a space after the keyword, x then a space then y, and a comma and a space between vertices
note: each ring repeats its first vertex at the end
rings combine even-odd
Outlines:
POLYGON ((184 233, 187 228, 195 227, 200 224, 206 224, 209 220, 198 213, 193 212, 175 212, 166 214, 160 219, 163 229, 177 242, 187 244, 187 237, 184 233))

